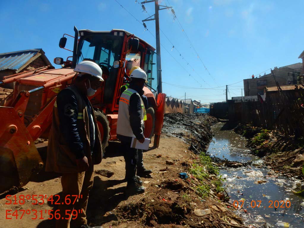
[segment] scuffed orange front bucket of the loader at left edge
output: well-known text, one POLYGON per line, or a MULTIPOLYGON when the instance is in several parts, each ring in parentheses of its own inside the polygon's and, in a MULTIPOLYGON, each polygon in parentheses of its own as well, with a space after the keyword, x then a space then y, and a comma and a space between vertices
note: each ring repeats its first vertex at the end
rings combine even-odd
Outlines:
POLYGON ((0 106, 0 193, 29 182, 43 162, 14 108, 0 106))

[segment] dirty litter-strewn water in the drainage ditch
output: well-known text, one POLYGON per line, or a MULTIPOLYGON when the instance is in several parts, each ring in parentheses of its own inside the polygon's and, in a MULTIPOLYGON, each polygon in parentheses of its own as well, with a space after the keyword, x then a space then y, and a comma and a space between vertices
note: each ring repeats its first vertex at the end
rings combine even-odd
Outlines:
POLYGON ((244 218, 245 225, 304 228, 303 192, 302 195, 293 193, 303 189, 303 182, 283 178, 267 169, 259 157, 249 154, 246 139, 233 130, 224 130, 226 125, 217 123, 212 127, 214 137, 207 152, 211 157, 229 161, 253 162, 245 167, 220 170, 230 202, 239 205, 236 213, 244 218))

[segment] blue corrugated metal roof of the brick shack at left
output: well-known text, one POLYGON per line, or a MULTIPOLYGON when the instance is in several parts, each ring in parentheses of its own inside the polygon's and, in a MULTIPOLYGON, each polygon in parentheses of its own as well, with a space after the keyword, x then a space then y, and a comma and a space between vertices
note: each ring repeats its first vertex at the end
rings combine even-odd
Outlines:
POLYGON ((52 66, 52 64, 44 54, 45 52, 41 48, 1 53, 0 71, 10 69, 16 70, 16 73, 18 73, 39 56, 43 58, 47 65, 52 66))

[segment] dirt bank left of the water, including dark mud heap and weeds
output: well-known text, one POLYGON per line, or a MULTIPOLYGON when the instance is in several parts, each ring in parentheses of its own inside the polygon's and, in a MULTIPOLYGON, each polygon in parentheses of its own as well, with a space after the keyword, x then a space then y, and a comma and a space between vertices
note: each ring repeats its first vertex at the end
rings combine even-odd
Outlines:
MULTIPOLYGON (((122 150, 119 142, 110 142, 106 158, 94 167, 94 186, 87 209, 90 224, 120 228, 246 227, 230 210, 233 207, 221 188, 217 169, 204 153, 212 138, 210 126, 215 122, 215 118, 204 114, 165 115, 160 147, 144 153, 144 164, 153 174, 142 178, 146 191, 141 195, 124 193, 122 150), (180 173, 186 173, 186 178, 180 173)), ((46 143, 39 145, 45 158, 46 143)), ((11 199, 15 195, 17 199, 21 195, 38 195, 34 198, 40 200, 39 195, 60 195, 60 191, 60 177, 42 171, 17 194, 11 193, 11 199)), ((40 205, 33 205, 33 199, 29 199, 23 205, 8 205, 7 194, 0 195, 0 227, 54 227, 54 220, 47 219, 49 216, 44 213, 57 209, 54 202, 40 200, 40 205), (6 210, 20 213, 33 209, 42 211, 43 219, 32 219, 32 214, 22 218, 19 214, 18 219, 6 215, 6 210)))

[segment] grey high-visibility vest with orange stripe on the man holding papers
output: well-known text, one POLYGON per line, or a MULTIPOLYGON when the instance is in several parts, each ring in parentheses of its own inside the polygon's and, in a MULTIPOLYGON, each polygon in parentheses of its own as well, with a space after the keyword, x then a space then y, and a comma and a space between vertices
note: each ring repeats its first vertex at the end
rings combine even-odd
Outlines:
MULTIPOLYGON (((139 96, 141 101, 141 128, 144 126, 144 118, 145 118, 145 106, 143 104, 143 100, 140 95, 133 89, 126 89, 120 96, 119 99, 119 109, 118 109, 118 119, 117 119, 117 129, 116 133, 123 136, 135 137, 133 134, 133 130, 130 125, 130 97, 133 94, 139 96)), ((146 117, 147 118, 147 117, 146 117)))

